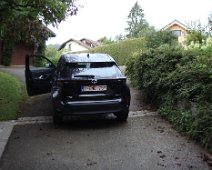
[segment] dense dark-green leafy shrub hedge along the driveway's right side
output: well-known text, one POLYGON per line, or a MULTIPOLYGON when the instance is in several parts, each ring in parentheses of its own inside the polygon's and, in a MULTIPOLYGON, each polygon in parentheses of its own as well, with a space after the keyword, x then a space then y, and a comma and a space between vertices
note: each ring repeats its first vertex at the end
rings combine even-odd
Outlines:
POLYGON ((212 151, 212 54, 161 46, 135 53, 127 75, 178 130, 212 151))

